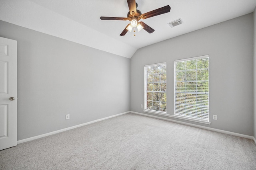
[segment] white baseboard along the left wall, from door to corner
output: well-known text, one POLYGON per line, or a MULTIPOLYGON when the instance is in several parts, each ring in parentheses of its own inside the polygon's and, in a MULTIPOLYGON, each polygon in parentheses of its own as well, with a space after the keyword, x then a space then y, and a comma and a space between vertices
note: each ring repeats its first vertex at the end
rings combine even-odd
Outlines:
POLYGON ((97 120, 90 121, 90 122, 87 122, 87 123, 82 123, 80 125, 75 125, 75 126, 72 126, 72 127, 67 127, 67 128, 64 128, 64 129, 60 129, 58 131, 53 131, 53 132, 50 132, 50 133, 45 133, 45 134, 38 135, 38 136, 35 136, 35 137, 30 137, 30 138, 27 138, 27 139, 22 139, 22 140, 17 141, 17 144, 28 142, 28 141, 32 141, 32 140, 39 139, 39 138, 42 138, 42 137, 46 137, 46 136, 49 136, 49 135, 53 135, 53 134, 56 134, 56 133, 68 131, 70 129, 74 129, 74 128, 81 127, 81 126, 84 126, 84 125, 89 125, 91 123, 95 123, 95 122, 98 122, 98 121, 106 120, 106 119, 109 119, 109 118, 112 118, 112 117, 116 117, 116 116, 120 116, 120 115, 123 115, 123 114, 126 114, 126 113, 130 113, 130 111, 126 111, 124 113, 119 113, 119 114, 112 115, 112 116, 109 116, 109 117, 104 117, 102 119, 97 119, 97 120))

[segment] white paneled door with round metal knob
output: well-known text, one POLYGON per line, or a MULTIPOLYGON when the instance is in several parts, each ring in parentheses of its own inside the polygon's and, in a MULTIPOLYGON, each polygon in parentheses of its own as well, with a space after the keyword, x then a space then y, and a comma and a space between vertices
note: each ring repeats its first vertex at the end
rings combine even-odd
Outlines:
POLYGON ((0 150, 17 145, 17 41, 0 37, 0 150))

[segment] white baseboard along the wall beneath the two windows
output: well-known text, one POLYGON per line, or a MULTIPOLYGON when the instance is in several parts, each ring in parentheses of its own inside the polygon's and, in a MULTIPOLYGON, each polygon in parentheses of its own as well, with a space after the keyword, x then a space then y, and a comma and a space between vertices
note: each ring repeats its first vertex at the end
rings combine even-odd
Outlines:
POLYGON ((138 114, 138 115, 144 115, 144 116, 148 116, 148 117, 154 117, 154 118, 157 118, 157 119, 172 121, 172 122, 180 123, 180 124, 184 124, 184 125, 199 127, 199 128, 201 128, 201 129, 206 129, 206 130, 210 130, 210 131, 216 131, 216 132, 225 133, 225 134, 228 134, 228 135, 234 135, 234 136, 238 136, 238 137, 244 137, 244 138, 247 138, 247 139, 252 139, 252 140, 254 140, 254 142, 255 142, 255 144, 256 144, 255 138, 254 138, 253 136, 249 136, 249 135, 243 135, 243 134, 240 134, 240 133, 234 133, 234 132, 230 132, 230 131, 224 131, 224 130, 215 129, 215 128, 212 128, 212 127, 205 127, 205 126, 201 126, 201 125, 195 125, 195 124, 192 124, 192 123, 186 123, 186 122, 182 122, 182 121, 176 121, 176 120, 172 120, 172 119, 167 119, 167 118, 158 117, 158 116, 154 116, 154 115, 148 115, 148 114, 145 114, 145 113, 139 113, 139 112, 135 112, 135 111, 130 111, 130 113, 135 113, 135 114, 138 114))

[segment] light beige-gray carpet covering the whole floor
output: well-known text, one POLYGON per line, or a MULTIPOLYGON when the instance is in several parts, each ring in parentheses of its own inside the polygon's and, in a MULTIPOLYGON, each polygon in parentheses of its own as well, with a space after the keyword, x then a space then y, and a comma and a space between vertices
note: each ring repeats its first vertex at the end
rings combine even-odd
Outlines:
POLYGON ((252 140, 128 113, 0 151, 1 170, 255 170, 252 140))

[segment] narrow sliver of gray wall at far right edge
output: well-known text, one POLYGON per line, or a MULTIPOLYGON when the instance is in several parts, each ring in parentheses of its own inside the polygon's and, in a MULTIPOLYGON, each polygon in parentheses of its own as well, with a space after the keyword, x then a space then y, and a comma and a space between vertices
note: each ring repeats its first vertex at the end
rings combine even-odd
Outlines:
POLYGON ((254 125, 254 138, 256 139, 256 7, 254 9, 253 13, 254 18, 254 50, 253 50, 253 90, 254 90, 254 96, 253 96, 253 125, 254 125))

